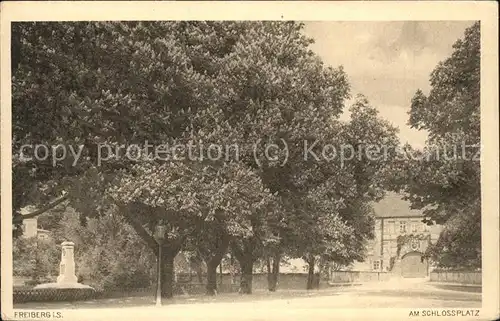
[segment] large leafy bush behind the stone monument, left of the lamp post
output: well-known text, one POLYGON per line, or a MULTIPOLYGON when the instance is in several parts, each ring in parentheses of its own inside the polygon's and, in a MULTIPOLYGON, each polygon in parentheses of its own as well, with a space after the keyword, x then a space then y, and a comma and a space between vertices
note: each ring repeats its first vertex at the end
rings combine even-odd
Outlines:
POLYGON ((75 243, 79 282, 98 291, 149 287, 155 280, 156 258, 119 215, 88 219, 69 211, 60 224, 60 240, 75 243))

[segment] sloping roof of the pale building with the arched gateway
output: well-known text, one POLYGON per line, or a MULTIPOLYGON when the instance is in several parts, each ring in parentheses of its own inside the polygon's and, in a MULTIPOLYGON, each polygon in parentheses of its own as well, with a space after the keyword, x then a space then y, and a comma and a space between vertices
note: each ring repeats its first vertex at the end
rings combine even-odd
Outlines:
POLYGON ((387 192, 378 203, 373 204, 377 217, 423 217, 422 211, 412 210, 410 202, 403 200, 402 194, 387 192))

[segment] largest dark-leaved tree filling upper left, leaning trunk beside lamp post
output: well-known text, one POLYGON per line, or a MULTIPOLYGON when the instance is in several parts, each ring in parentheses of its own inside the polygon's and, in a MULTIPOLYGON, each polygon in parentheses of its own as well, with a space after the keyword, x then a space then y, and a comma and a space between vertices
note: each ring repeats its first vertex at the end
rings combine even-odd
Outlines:
MULTIPOLYGON (((20 53, 13 66, 15 217, 24 205, 52 205, 61 199, 84 216, 103 215, 113 205, 106 194, 113 183, 125 184, 127 177, 141 175, 134 167, 137 162, 123 157, 124 149, 116 149, 121 144, 158 145, 193 138, 198 120, 190 117, 211 119, 206 109, 217 106, 220 97, 213 84, 218 61, 231 52, 244 30, 245 24, 211 22, 15 24, 14 51, 20 53), (82 145, 82 155, 78 162, 66 157, 57 166, 50 157, 21 157, 23 145, 40 143, 82 145), (107 148, 101 150, 100 144, 107 148), (103 158, 106 162, 101 163, 103 158), (63 197, 50 202, 62 192, 63 197)), ((210 128, 196 128, 195 138, 203 138, 203 130, 210 134, 210 128)), ((137 216, 147 212, 151 202, 134 197, 135 203, 116 200, 127 221, 156 252, 151 225, 160 215, 137 216)), ((169 209, 166 218, 184 212, 189 211, 169 209)), ((184 227, 190 218, 177 223, 184 227)), ((169 262, 164 271, 170 276, 173 253, 188 234, 181 232, 175 244, 167 242, 169 262)), ((164 284, 170 296, 171 282, 164 284)))

